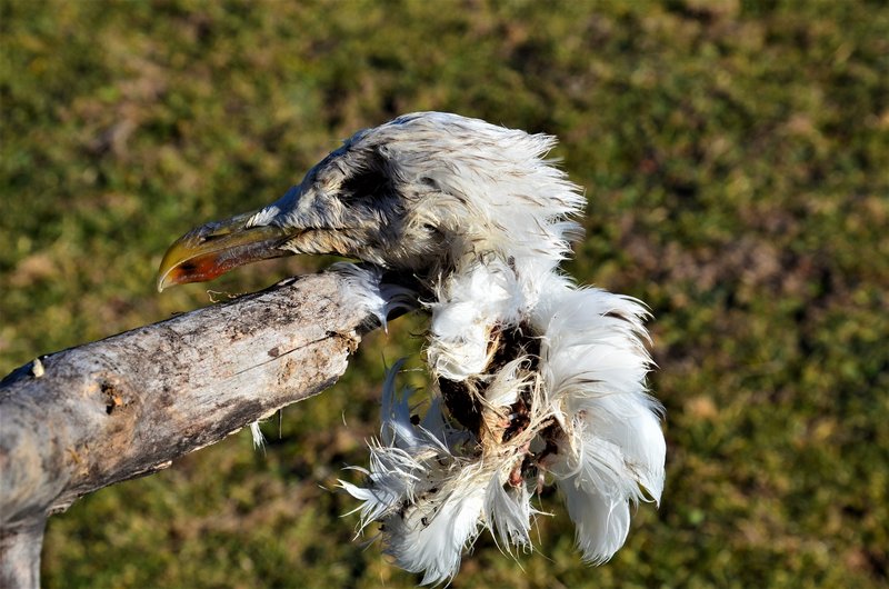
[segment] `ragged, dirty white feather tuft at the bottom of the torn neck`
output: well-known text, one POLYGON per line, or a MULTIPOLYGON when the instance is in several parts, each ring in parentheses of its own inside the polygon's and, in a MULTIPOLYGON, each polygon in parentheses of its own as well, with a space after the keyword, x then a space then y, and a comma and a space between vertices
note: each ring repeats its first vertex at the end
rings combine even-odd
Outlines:
MULTIPOLYGON (((512 362, 518 367, 520 361, 512 362)), ((537 513, 525 486, 506 485, 520 460, 521 436, 477 459, 477 442, 451 429, 433 403, 421 425, 411 423, 409 389, 397 395, 399 360, 383 385, 380 439, 370 443, 370 468, 351 467, 367 477, 367 486, 340 480, 362 501, 360 529, 383 525, 386 552, 406 570, 424 572, 422 582, 448 580, 459 569, 462 551, 482 527, 496 530, 507 549, 530 546, 530 518, 537 513), (470 442, 470 443, 467 443, 470 442)), ((498 375, 515 387, 518 379, 498 375)), ((505 398, 500 395, 500 398, 505 398)), ((529 435, 526 433, 527 438, 529 435)))

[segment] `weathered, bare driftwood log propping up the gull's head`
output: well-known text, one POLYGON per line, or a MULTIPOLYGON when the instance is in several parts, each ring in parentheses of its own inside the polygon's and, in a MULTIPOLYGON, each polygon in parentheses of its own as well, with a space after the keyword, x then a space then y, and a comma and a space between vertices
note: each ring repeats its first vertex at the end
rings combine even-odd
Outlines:
POLYGON ((42 356, 0 382, 0 587, 39 585, 46 518, 330 387, 377 326, 336 272, 42 356))

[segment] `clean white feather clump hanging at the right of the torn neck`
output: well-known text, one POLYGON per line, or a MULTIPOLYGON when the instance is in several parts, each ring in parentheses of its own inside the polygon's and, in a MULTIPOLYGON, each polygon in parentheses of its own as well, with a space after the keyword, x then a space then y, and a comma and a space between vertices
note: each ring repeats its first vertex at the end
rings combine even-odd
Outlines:
POLYGON ((568 433, 548 465, 578 526, 585 558, 602 562, 629 530, 630 502, 663 488, 666 446, 646 392, 646 310, 633 299, 556 284, 536 309, 541 372, 568 433), (581 508, 585 505, 586 508, 581 508))

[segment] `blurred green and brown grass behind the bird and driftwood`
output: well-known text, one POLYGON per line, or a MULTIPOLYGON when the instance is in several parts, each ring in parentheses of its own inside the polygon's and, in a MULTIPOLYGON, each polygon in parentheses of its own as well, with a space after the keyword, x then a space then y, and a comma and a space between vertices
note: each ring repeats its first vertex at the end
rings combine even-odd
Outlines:
MULTIPOLYGON (((482 536, 452 586, 886 586, 886 2, 0 8, 0 373, 208 305, 208 286, 154 292, 166 247, 359 128, 434 109, 555 133, 590 198, 571 271, 656 316, 663 505, 588 568, 546 493, 538 552, 482 536)), ((383 359, 416 353, 421 325, 369 338, 338 386, 263 425, 264 452, 241 432, 53 517, 44 586, 411 587, 352 540, 332 487, 366 462, 383 359)))

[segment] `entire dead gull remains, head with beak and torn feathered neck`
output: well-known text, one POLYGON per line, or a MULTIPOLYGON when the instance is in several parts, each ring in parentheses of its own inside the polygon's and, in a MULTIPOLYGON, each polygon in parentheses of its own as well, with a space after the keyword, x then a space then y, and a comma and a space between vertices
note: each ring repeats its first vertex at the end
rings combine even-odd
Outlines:
POLYGON ((397 298, 378 290, 380 269, 417 277, 432 401, 411 415, 396 363, 366 483, 341 485, 362 501, 361 527, 380 522, 387 552, 423 583, 452 578, 486 527, 507 550, 529 548, 545 478, 596 563, 623 545, 631 503, 660 500, 647 311, 560 272, 585 198, 545 159, 553 144, 457 114, 399 117, 274 203, 183 236, 161 264, 159 288, 291 252, 358 258, 374 264, 350 271, 383 322, 397 298))

